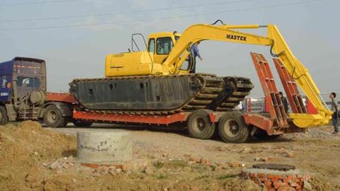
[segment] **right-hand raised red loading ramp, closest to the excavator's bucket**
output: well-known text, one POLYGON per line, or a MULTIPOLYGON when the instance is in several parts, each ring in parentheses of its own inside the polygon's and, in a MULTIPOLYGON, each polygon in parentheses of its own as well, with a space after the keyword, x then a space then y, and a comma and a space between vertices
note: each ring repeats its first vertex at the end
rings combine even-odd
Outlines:
POLYGON ((297 89, 296 82, 293 77, 288 73, 285 66, 283 66, 280 59, 273 59, 278 71, 283 88, 285 89, 285 95, 290 103, 290 108, 294 113, 307 113, 306 107, 303 104, 303 100, 300 96, 300 92, 297 89))

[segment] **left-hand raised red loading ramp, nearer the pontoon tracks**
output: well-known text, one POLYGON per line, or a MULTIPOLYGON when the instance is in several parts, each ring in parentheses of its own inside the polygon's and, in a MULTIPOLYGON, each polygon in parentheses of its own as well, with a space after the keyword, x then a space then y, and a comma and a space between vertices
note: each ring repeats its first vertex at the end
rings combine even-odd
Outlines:
MULTIPOLYGON (((271 115, 271 120, 274 120, 274 128, 289 127, 287 115, 283 108, 283 103, 278 95, 278 88, 273 79, 271 68, 262 54, 251 52, 251 59, 253 59, 256 72, 259 76, 262 90, 266 99, 266 110, 271 115)), ((268 129, 267 127, 263 127, 268 129)))

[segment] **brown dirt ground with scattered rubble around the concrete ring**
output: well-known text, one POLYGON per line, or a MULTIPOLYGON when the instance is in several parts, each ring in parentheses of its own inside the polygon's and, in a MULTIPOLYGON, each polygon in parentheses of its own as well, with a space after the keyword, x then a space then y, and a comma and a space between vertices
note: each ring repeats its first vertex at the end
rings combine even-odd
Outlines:
POLYGON ((94 125, 52 129, 37 122, 0 126, 0 190, 265 190, 240 177, 254 163, 294 165, 313 190, 340 190, 340 137, 310 128, 275 141, 226 144, 181 130, 94 125), (133 160, 107 166, 77 163, 78 131, 132 134, 133 160))

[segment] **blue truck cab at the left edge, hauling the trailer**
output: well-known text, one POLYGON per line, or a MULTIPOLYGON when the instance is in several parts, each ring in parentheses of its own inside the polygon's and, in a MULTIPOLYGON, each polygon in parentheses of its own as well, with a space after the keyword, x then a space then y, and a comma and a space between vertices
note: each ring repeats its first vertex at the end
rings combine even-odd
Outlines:
POLYGON ((0 63, 0 125, 8 120, 38 120, 46 98, 46 64, 15 57, 0 63))

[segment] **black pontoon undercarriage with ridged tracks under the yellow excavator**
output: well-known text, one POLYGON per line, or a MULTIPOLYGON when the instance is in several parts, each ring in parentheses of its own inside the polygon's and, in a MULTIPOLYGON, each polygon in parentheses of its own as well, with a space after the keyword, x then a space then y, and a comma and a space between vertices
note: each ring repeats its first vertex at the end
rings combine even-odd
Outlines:
MULTIPOLYGON (((81 105, 81 110, 164 115, 197 109, 220 110, 220 108, 224 109, 224 105, 228 103, 235 105, 234 99, 227 100, 227 97, 230 97, 227 95, 232 95, 232 92, 237 90, 237 88, 229 87, 231 86, 229 81, 232 78, 234 77, 221 78, 213 74, 124 76, 106 79, 75 79, 69 85, 70 92, 81 105), (227 79, 229 81, 226 81, 227 79), (221 97, 222 92, 225 93, 221 97), (222 100, 216 102, 217 98, 222 98, 222 100)), ((245 90, 248 89, 244 89, 244 95, 245 90)), ((234 106, 226 109, 232 108, 234 106)))

